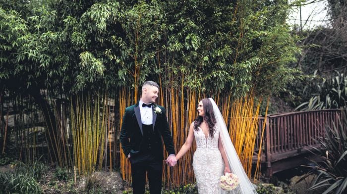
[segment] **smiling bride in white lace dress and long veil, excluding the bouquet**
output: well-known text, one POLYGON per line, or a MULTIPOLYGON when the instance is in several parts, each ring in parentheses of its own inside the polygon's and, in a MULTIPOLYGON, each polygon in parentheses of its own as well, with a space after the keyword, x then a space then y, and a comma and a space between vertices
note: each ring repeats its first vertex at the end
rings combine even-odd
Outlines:
POLYGON ((224 122, 222 114, 212 98, 198 104, 198 117, 189 127, 188 137, 176 155, 180 159, 196 141, 193 170, 199 194, 256 194, 249 181, 224 122), (232 191, 219 187, 219 179, 225 173, 236 174, 239 185, 232 191))

